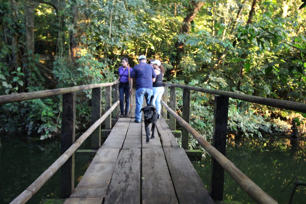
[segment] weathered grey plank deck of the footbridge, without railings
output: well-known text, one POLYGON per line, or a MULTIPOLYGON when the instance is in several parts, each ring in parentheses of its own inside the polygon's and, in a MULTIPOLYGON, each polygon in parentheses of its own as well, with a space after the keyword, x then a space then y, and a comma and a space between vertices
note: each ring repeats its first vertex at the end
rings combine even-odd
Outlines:
POLYGON ((65 204, 214 203, 163 118, 157 132, 119 118, 65 204))

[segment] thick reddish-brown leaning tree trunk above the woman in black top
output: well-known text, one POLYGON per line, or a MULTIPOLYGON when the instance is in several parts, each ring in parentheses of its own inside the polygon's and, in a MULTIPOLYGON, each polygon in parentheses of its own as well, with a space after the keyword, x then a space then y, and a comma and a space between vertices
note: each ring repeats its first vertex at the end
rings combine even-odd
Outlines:
MULTIPOLYGON (((196 2, 191 1, 191 4, 188 6, 187 9, 187 16, 184 18, 182 26, 181 26, 181 32, 180 34, 187 35, 190 30, 191 21, 194 20, 196 17, 196 14, 200 11, 201 7, 204 5, 204 2, 196 2)), ((175 44, 175 49, 177 52, 177 55, 175 56, 175 67, 180 63, 181 61, 181 55, 185 52, 185 42, 179 42, 177 40, 175 44)))

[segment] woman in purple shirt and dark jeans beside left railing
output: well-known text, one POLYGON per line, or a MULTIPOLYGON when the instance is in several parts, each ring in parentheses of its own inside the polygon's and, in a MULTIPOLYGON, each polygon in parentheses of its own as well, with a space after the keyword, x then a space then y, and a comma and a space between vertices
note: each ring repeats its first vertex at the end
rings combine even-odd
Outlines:
MULTIPOLYGON (((129 85, 129 70, 128 64, 129 60, 126 57, 121 59, 122 67, 119 67, 119 77, 117 81, 119 83, 119 96, 120 96, 120 117, 128 117, 129 107, 130 107, 130 94, 132 94, 133 80, 130 80, 129 85), (124 97, 125 95, 125 97, 124 97), (124 98, 125 98, 125 109, 124 109, 124 98)), ((132 72, 132 68, 130 68, 130 72, 132 72)))

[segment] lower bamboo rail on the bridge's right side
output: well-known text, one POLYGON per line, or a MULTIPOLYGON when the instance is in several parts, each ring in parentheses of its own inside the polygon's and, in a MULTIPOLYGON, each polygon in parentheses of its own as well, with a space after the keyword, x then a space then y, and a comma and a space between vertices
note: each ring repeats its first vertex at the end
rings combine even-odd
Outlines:
POLYGON ((223 154, 221 154, 215 147, 211 146, 200 133, 196 132, 186 121, 184 121, 179 115, 177 115, 167 104, 161 100, 161 103, 168 112, 173 115, 177 121, 198 141, 208 154, 211 155, 223 169, 233 178, 233 180, 257 203, 272 204, 277 203, 266 192, 264 192, 259 186, 257 186, 251 179, 249 179, 244 173, 242 173, 230 160, 228 160, 223 154))

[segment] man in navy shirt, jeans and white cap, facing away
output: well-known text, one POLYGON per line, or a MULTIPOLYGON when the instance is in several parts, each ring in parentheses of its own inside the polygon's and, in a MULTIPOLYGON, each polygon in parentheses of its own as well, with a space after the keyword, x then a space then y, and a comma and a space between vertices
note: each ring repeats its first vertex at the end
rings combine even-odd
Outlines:
POLYGON ((136 78, 136 109, 135 109, 135 123, 141 120, 141 108, 144 97, 147 105, 149 105, 151 95, 153 95, 153 82, 155 81, 156 74, 153 67, 147 64, 147 58, 140 55, 138 58, 139 64, 136 65, 131 74, 131 78, 136 78))

